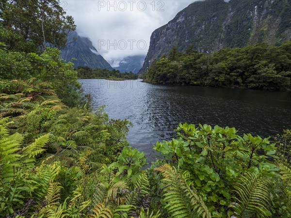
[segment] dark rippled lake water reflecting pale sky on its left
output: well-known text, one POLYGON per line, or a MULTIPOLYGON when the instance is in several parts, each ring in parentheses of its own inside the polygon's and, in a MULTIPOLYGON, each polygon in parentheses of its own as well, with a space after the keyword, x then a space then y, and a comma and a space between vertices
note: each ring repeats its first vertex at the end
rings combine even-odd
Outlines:
POLYGON ((93 106, 110 118, 133 123, 130 146, 152 152, 151 143, 170 140, 181 123, 230 126, 239 133, 274 137, 291 128, 291 92, 152 85, 141 80, 80 79, 93 106))

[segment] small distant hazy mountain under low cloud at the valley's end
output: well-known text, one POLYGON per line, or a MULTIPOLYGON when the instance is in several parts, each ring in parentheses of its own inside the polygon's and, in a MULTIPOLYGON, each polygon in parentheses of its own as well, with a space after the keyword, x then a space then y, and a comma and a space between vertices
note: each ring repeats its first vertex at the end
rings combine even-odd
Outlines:
POLYGON ((131 71, 132 73, 137 74, 143 66, 145 57, 145 55, 126 57, 119 63, 119 67, 114 67, 114 69, 119 70, 122 73, 131 71))

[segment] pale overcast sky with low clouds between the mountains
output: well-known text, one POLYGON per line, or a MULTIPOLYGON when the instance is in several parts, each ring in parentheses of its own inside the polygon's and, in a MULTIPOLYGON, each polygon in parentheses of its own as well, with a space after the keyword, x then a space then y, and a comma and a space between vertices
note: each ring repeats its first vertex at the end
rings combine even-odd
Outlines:
POLYGON ((113 67, 128 56, 146 55, 151 33, 195 0, 61 0, 77 31, 113 67))

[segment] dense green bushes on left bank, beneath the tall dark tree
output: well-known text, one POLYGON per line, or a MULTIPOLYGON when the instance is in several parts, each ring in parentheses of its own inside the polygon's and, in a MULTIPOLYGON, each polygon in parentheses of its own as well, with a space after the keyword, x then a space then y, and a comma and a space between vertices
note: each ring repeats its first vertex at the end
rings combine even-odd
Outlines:
MULTIPOLYGON (((66 105, 76 106, 80 100, 81 84, 77 81, 74 64, 66 63, 60 52, 56 48, 47 48, 38 55, 0 48, 0 79, 28 80, 37 77, 49 82, 66 105)), ((1 81, 0 89, 10 90, 9 82, 1 81)))

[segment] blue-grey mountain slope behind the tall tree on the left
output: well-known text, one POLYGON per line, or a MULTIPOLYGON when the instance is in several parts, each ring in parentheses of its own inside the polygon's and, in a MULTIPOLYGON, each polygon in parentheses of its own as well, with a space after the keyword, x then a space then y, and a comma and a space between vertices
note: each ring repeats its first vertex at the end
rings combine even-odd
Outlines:
POLYGON ((78 66, 89 66, 91 68, 112 69, 111 65, 98 53, 89 38, 81 37, 74 31, 68 37, 67 46, 61 49, 62 57, 78 66), (71 60, 75 58, 77 60, 71 60))

